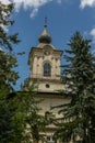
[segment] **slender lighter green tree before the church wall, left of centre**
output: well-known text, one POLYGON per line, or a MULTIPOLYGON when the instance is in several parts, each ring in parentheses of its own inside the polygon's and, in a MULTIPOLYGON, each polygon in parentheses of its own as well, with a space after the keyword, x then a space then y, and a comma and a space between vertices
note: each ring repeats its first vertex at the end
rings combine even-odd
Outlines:
POLYGON ((44 140, 40 132, 45 132, 47 122, 44 116, 38 113, 41 110, 38 107, 40 100, 36 98, 37 92, 35 88, 37 88, 37 86, 33 82, 27 91, 24 92, 26 95, 24 111, 26 111, 26 135, 28 136, 28 142, 38 143, 40 140, 44 140))

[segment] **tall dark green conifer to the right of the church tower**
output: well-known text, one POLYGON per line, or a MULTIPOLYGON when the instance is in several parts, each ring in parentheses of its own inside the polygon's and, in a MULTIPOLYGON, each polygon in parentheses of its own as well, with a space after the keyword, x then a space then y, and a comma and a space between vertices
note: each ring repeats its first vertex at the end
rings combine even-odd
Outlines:
POLYGON ((95 57, 90 43, 76 32, 66 51, 63 82, 70 102, 59 107, 63 118, 56 132, 62 142, 95 142, 95 57))

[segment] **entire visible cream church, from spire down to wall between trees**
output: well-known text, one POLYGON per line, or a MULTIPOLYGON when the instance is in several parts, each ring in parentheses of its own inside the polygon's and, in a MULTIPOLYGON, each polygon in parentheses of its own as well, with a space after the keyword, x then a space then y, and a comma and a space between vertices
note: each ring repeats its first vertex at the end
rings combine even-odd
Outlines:
MULTIPOLYGON (((63 52, 51 44, 46 20, 38 42, 38 45, 32 47, 29 53, 29 85, 37 80, 37 97, 43 99, 39 103, 41 108, 39 113, 48 113, 54 118, 58 118, 57 109, 52 111, 51 107, 68 102, 67 98, 60 95, 60 90, 64 89, 61 80, 61 56, 63 52)), ((48 128, 49 130, 45 133, 45 140, 47 143, 56 143, 52 139, 56 127, 50 124, 48 128)))

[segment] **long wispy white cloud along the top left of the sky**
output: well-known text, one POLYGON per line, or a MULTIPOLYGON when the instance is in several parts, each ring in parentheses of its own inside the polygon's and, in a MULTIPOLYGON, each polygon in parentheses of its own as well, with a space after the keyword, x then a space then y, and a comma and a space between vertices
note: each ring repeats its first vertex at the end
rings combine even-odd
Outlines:
POLYGON ((35 16, 38 12, 39 8, 49 3, 49 2, 57 2, 61 3, 61 0, 0 0, 4 4, 9 4, 13 2, 15 4, 15 11, 20 11, 20 8, 23 7, 24 10, 31 9, 31 18, 35 16))

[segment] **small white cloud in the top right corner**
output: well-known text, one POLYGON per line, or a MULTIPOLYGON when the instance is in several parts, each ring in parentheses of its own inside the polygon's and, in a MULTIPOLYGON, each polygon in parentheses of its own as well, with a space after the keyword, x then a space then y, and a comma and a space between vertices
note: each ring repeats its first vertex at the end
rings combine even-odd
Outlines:
POLYGON ((95 7, 95 0, 81 0, 80 8, 84 9, 85 7, 95 7))

